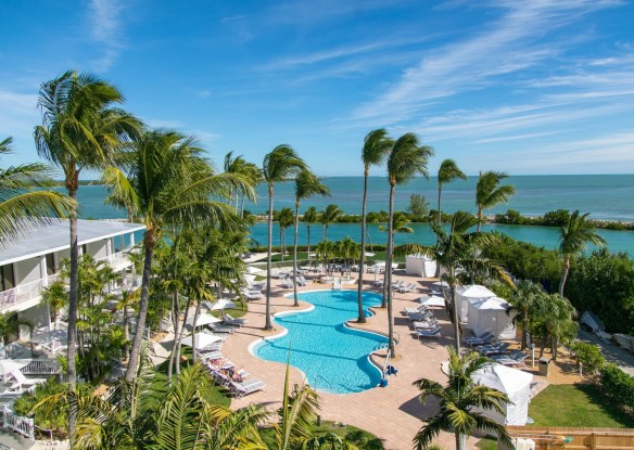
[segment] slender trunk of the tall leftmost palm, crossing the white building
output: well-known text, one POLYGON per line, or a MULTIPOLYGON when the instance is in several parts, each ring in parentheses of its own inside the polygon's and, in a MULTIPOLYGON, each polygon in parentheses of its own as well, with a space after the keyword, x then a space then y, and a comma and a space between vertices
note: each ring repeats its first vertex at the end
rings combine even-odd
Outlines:
MULTIPOLYGON (((68 189, 68 196, 74 201, 77 200, 77 190, 68 189)), ((77 355, 77 297, 79 294, 79 246, 77 244, 77 209, 73 208, 68 215, 71 224, 71 273, 68 277, 68 349, 66 350, 66 361, 68 364, 68 391, 75 390, 77 384, 77 364, 75 361, 77 355)), ((71 401, 68 408, 68 437, 71 445, 75 442, 75 428, 77 426, 76 402, 71 401)))

